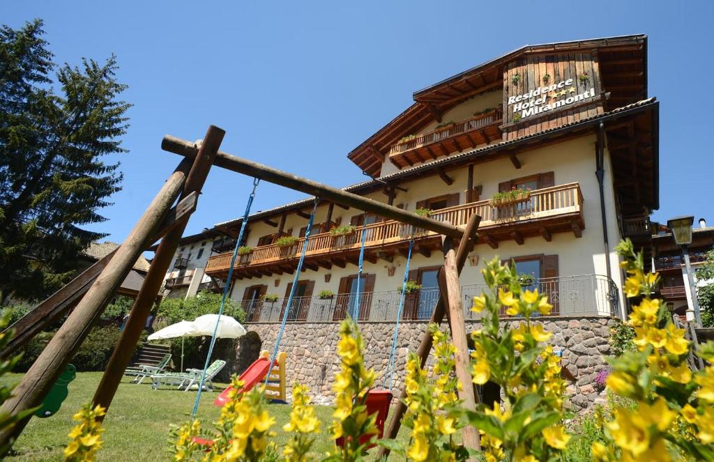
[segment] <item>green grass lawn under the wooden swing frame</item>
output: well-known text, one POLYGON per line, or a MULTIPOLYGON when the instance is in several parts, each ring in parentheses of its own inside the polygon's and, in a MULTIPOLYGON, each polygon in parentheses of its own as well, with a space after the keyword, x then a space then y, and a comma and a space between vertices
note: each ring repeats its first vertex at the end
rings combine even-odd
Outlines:
MULTIPOLYGON (((20 374, 6 380, 19 381, 20 374)), ((69 396, 58 413, 50 418, 32 418, 25 431, 14 445, 14 453, 8 461, 62 461, 62 451, 67 442, 67 433, 74 426, 72 416, 83 403, 91 400, 101 378, 99 372, 78 373, 69 385, 69 396)), ((134 385, 125 380, 119 386, 109 413, 104 421, 106 432, 104 444, 99 451, 99 461, 167 461, 169 424, 183 423, 193 409, 195 392, 185 393, 171 388, 152 390, 149 384, 134 385)), ((198 418, 210 424, 216 420, 219 408, 213 406, 217 393, 203 393, 198 418)), ((323 433, 313 446, 315 453, 324 454, 332 446, 328 429, 333 409, 316 406, 316 413, 323 422, 323 433)), ((282 445, 288 436, 282 430, 288 421, 290 406, 270 405, 271 416, 276 418, 274 430, 278 433, 276 443, 282 445)), ((400 435, 401 436, 401 435, 400 435)))

